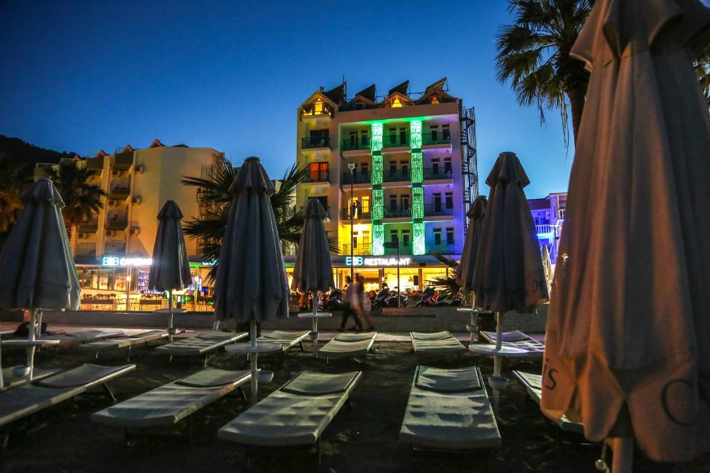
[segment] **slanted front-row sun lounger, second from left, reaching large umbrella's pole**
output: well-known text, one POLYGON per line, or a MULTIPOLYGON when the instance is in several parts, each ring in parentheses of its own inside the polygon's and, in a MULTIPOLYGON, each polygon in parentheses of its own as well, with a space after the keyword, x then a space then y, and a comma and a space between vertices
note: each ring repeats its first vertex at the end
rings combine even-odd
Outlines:
POLYGON ((174 425, 249 382, 251 372, 205 368, 94 413, 91 420, 124 428, 174 425))

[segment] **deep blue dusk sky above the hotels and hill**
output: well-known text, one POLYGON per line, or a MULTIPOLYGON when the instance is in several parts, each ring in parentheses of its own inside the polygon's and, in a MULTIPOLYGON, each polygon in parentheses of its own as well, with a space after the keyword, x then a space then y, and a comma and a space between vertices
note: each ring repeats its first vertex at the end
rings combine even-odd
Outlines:
MULTIPOLYGON (((559 112, 540 126, 495 79, 507 2, 0 0, 0 134, 81 155, 154 138, 295 160, 296 108, 344 75, 349 95, 440 77, 476 107, 479 172, 514 151, 529 197, 567 190, 559 112)), ((483 186, 481 191, 488 192, 483 186)))

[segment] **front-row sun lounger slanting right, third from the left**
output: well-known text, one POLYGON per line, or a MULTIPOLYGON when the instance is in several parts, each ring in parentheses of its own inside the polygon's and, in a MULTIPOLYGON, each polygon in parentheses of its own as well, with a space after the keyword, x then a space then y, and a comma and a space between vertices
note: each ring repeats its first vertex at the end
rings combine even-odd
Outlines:
POLYGON ((318 445, 361 374, 300 372, 224 425, 217 437, 243 445, 318 445))

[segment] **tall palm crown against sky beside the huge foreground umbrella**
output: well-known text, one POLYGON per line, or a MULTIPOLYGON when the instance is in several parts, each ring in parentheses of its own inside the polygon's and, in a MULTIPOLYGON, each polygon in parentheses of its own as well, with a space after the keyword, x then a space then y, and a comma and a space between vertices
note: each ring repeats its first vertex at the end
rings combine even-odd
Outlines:
POLYGON ((567 107, 577 138, 589 84, 584 63, 569 55, 589 11, 588 0, 509 0, 515 16, 503 26, 496 48, 497 77, 510 81, 518 103, 545 110, 559 109, 567 142, 567 107))

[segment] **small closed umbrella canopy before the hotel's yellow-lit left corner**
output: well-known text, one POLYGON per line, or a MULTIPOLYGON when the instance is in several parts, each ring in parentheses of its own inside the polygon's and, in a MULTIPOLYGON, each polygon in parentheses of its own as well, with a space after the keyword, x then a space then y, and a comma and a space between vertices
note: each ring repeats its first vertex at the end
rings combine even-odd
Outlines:
POLYGON ((294 291, 306 292, 312 289, 327 291, 335 286, 328 237, 323 225, 326 216, 327 213, 318 199, 308 201, 296 261, 293 265, 291 289, 294 291))

